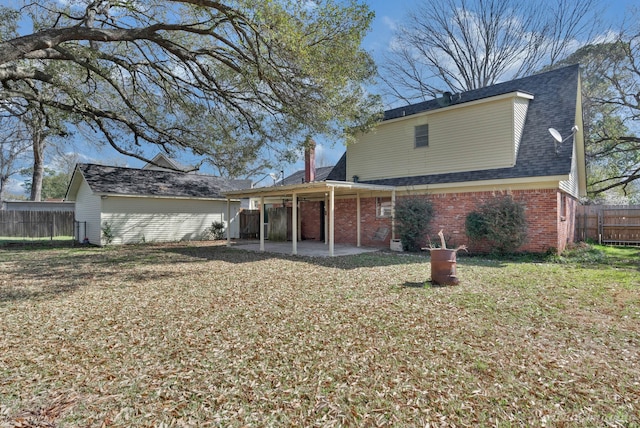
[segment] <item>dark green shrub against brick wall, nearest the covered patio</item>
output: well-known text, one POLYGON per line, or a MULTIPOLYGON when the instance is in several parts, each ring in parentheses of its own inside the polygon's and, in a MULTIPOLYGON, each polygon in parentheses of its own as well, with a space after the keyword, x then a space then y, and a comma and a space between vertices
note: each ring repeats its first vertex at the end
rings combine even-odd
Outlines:
POLYGON ((399 199, 395 207, 396 232, 406 251, 420 251, 433 219, 431 201, 419 197, 399 199))

